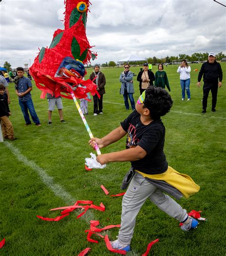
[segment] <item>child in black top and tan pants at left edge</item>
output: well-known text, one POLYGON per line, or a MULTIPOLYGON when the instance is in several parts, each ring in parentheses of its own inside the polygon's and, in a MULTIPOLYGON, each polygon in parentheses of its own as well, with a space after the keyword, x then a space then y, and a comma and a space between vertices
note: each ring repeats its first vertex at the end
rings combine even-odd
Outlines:
POLYGON ((16 140, 14 137, 14 131, 12 127, 12 123, 9 120, 9 116, 11 115, 9 105, 8 105, 8 95, 4 93, 5 87, 2 83, 0 83, 0 122, 1 129, 4 139, 16 140))

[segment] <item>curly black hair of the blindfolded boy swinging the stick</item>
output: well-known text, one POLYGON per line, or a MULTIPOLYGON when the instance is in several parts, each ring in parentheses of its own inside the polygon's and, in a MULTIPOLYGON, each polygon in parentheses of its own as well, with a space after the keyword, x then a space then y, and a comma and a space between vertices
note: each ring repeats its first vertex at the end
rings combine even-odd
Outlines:
POLYGON ((144 108, 150 111, 153 120, 160 119, 170 111, 173 100, 169 93, 160 87, 150 86, 145 91, 144 108))

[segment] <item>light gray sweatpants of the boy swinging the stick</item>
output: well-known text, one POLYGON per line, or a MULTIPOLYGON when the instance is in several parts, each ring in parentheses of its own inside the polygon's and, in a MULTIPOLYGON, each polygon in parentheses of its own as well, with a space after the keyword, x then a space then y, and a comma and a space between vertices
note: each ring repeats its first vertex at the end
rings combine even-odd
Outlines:
POLYGON ((162 190, 155 187, 141 174, 136 172, 123 196, 121 228, 118 235, 118 241, 122 245, 130 245, 134 234, 136 216, 147 198, 158 206, 159 209, 179 222, 187 218, 185 209, 182 209, 175 200, 165 195, 162 190))

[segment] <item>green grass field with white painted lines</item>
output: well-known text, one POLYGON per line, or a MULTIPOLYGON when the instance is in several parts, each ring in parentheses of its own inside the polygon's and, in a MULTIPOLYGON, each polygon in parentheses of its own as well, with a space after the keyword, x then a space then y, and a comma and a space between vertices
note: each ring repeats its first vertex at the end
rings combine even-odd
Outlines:
MULTIPOLYGON (((226 63, 221 63, 226 74, 226 63)), ((192 70, 201 64, 192 64, 192 70)), ((131 70, 138 74, 140 67, 131 70)), ((146 201, 136 220, 132 252, 140 256, 151 241, 150 255, 154 256, 223 256, 225 255, 225 168, 226 168, 226 79, 218 90, 216 112, 211 112, 211 94, 206 114, 202 114, 202 89, 196 87, 198 72, 191 72, 191 100, 181 101, 181 88, 177 66, 164 67, 174 100, 172 110, 163 117, 166 127, 165 155, 168 164, 177 171, 190 175, 201 189, 189 199, 179 203, 187 211, 203 211, 207 222, 183 233, 179 223, 146 201)), ((86 116, 94 136, 102 137, 120 125, 131 111, 126 111, 123 96, 119 95, 119 76, 123 68, 102 69, 106 76, 106 94, 103 97, 103 115, 93 116, 92 102, 86 116)), ((157 71, 154 66, 153 71, 157 71)), ((88 70, 88 75, 92 70, 88 70)), ((88 76, 87 76, 88 77, 88 76)), ((33 81, 32 81, 33 82, 33 81)), ((138 82, 134 77, 134 99, 139 97, 138 82)), ((52 125, 48 126, 48 102, 41 100, 41 92, 34 86, 31 92, 41 127, 25 127, 23 115, 10 84, 10 121, 16 141, 0 143, 0 240, 6 239, 0 255, 78 255, 86 247, 88 255, 113 255, 103 239, 99 244, 89 243, 84 231, 90 220, 99 220, 100 228, 119 224, 122 197, 109 197, 103 193, 103 184, 110 194, 123 192, 121 181, 130 163, 111 163, 105 169, 84 169, 84 159, 91 148, 89 135, 72 100, 62 99, 66 123, 61 123, 58 111, 53 111, 52 125), (60 222, 46 222, 36 215, 54 218, 60 211, 51 208, 72 205, 76 200, 101 202, 104 212, 90 209, 80 219, 81 212, 73 211, 60 222)), ((125 138, 102 149, 102 153, 122 150, 125 138)), ((118 228, 111 229, 110 240, 116 239, 118 228)))

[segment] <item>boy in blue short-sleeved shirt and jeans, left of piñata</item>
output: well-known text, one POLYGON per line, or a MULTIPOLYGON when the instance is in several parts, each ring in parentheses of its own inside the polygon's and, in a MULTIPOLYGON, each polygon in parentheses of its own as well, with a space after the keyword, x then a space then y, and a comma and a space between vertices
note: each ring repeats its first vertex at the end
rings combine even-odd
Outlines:
POLYGON ((17 75, 18 77, 15 78, 15 90, 19 98, 19 104, 21 107, 21 111, 23 113, 24 120, 26 122, 25 126, 31 124, 28 110, 31 114, 31 118, 33 122, 37 126, 41 126, 39 118, 34 109, 33 101, 31 99, 31 90, 32 90, 31 80, 23 76, 24 75, 23 67, 17 67, 17 75))

